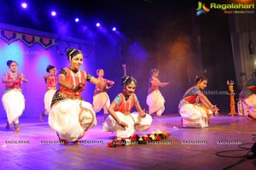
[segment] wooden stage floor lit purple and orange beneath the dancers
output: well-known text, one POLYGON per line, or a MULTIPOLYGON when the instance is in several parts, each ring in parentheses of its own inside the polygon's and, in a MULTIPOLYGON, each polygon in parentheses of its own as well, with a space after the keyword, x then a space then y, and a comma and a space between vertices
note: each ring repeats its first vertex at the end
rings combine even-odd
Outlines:
MULTIPOLYGON (((102 115, 97 115, 97 126, 84 135, 83 144, 79 145, 58 144, 55 131, 50 129, 47 121, 40 122, 38 117, 20 118, 20 133, 6 130, 5 122, 0 119, 0 167, 15 170, 224 169, 243 160, 239 156, 247 155, 255 143, 253 135, 256 133, 256 122, 249 122, 243 116, 214 116, 210 127, 181 128, 180 116, 172 114, 154 118, 152 127, 146 132, 166 130, 172 133, 169 142, 109 148, 107 144, 114 134, 102 132, 102 115), (241 150, 240 144, 245 149, 241 150), (240 151, 216 156, 223 150, 240 151)), ((256 159, 253 159, 226 169, 255 168, 256 159)))

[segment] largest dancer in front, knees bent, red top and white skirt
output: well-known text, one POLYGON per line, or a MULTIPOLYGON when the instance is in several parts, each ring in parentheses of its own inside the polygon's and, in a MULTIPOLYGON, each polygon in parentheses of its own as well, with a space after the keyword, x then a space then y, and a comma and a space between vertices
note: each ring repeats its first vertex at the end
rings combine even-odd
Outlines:
POLYGON ((84 61, 81 51, 69 48, 67 59, 70 67, 61 69, 58 77, 60 89, 52 99, 49 112, 49 126, 57 132, 59 140, 64 144, 78 143, 89 128, 96 126, 92 105, 82 99, 81 93, 86 81, 102 86, 95 77, 79 70, 84 61))

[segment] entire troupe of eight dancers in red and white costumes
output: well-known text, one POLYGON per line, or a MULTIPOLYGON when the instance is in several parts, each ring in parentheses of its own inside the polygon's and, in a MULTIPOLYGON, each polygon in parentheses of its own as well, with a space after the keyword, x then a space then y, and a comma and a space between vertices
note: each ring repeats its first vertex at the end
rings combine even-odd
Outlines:
MULTIPOLYGON (((102 124, 103 132, 114 132, 117 138, 129 138, 135 132, 144 132, 150 128, 152 114, 161 116, 165 111, 165 99, 159 88, 168 85, 168 82, 160 82, 159 71, 150 71, 148 88, 148 113, 142 109, 135 89, 137 81, 134 77, 124 76, 121 79, 123 92, 119 93, 110 104, 107 91, 113 87, 114 82, 103 78, 104 71, 96 71, 98 77, 93 77, 88 72, 80 70, 83 65, 83 53, 76 48, 67 50, 67 59, 70 66, 62 68, 56 75, 54 65, 48 65, 44 76, 47 91, 44 94, 44 109, 40 119, 49 115, 49 127, 55 130, 58 139, 64 144, 77 143, 84 137, 84 133, 96 126, 96 112, 103 110, 105 122, 102 124), (96 85, 93 104, 82 99, 82 92, 86 82, 96 85), (59 88, 57 88, 59 85, 59 88), (132 111, 133 107, 137 111, 132 111)), ((22 73, 18 73, 18 64, 9 60, 7 62, 9 72, 3 76, 6 88, 2 97, 3 107, 7 113, 8 122, 6 128, 14 125, 15 132, 19 132, 19 117, 25 109, 25 99, 21 91, 22 82, 27 82, 22 73)), ((255 71, 254 71, 255 76, 255 71)), ((182 117, 183 127, 207 127, 209 119, 218 116, 217 105, 212 105, 207 96, 201 91, 207 87, 206 77, 195 77, 195 86, 189 88, 183 95, 178 111, 182 117)), ((251 106, 249 118, 256 120, 255 114, 255 77, 247 83, 242 90, 241 99, 251 106)))

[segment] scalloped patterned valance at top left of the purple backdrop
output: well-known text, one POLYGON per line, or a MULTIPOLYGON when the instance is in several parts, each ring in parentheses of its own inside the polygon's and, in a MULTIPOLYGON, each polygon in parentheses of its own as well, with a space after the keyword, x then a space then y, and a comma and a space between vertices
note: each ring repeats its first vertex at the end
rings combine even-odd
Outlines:
POLYGON ((4 29, 0 29, 0 38, 3 39, 4 42, 10 44, 17 40, 25 43, 27 47, 32 47, 35 43, 38 43, 45 49, 48 49, 55 45, 55 39, 49 37, 38 37, 31 34, 23 34, 16 31, 8 31, 4 29))

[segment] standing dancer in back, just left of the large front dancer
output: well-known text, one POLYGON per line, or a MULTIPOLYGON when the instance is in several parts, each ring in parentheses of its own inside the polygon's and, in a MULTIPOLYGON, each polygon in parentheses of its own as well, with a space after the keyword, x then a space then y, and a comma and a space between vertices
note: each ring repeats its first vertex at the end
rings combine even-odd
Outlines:
POLYGON ((44 121, 44 116, 49 115, 51 100, 57 90, 56 86, 58 81, 58 78, 56 77, 56 68, 54 65, 48 65, 46 71, 49 74, 44 76, 44 82, 47 90, 44 94, 44 112, 40 115, 41 121, 44 121))

